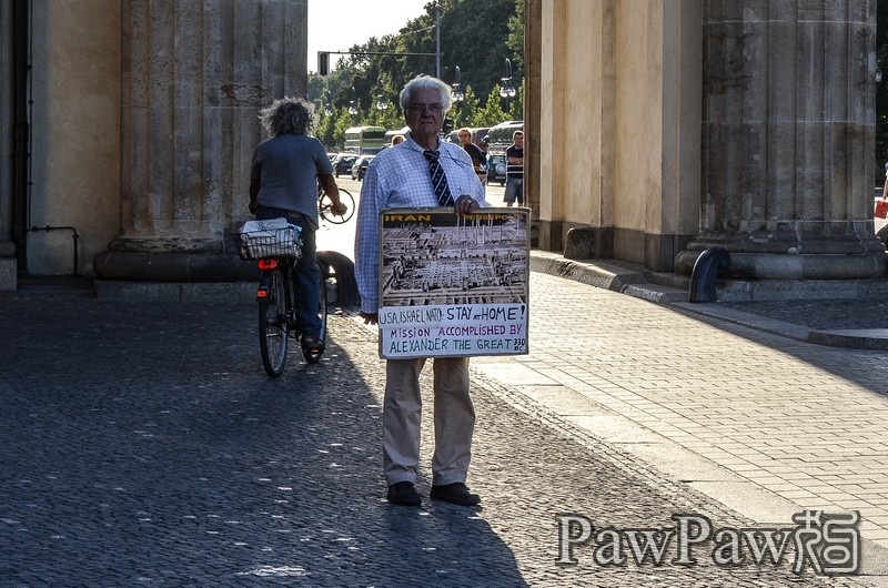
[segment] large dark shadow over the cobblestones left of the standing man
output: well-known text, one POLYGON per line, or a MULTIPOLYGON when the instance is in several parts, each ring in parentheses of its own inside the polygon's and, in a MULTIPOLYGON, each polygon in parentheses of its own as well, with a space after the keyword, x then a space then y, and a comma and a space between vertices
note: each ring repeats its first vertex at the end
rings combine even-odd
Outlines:
POLYGON ((474 511, 384 501, 382 364, 335 332, 269 379, 252 301, 0 308, 0 584, 525 586, 474 511))

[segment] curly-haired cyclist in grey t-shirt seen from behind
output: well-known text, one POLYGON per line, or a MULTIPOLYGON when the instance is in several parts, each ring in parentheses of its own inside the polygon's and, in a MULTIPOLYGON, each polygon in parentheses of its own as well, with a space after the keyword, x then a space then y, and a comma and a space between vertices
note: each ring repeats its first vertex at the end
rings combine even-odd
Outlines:
POLYGON ((250 169, 250 212, 256 220, 284 217, 301 229, 302 257, 293 272, 299 292, 296 322, 303 349, 323 352, 317 306, 321 300, 316 264, 317 183, 333 202, 331 212, 344 215, 333 165, 321 142, 309 136, 311 113, 301 99, 284 98, 260 111, 270 139, 256 145, 250 169))

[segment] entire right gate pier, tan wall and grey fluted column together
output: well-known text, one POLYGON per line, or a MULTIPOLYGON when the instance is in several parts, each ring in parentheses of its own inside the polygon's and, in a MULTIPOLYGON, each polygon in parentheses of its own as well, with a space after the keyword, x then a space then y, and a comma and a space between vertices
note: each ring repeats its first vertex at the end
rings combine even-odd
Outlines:
POLYGON ((885 274, 875 2, 532 3, 542 249, 689 273, 720 246, 735 277, 885 274))

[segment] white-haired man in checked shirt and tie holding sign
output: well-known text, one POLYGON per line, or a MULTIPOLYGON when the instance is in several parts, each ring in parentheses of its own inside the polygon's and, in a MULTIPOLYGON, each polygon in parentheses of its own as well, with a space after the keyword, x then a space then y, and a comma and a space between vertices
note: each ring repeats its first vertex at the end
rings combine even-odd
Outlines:
MULTIPOLYGON (((410 128, 406 140, 380 152, 361 189, 355 233, 355 276, 361 315, 376 324, 380 307, 380 212, 386 209, 452 206, 465 214, 488 206, 472 160, 462 148, 441 141, 451 89, 436 78, 421 75, 401 92, 401 109, 410 128)), ((391 504, 417 506, 422 399, 420 373, 425 358, 389 359, 383 403, 383 469, 391 504)), ((465 485, 472 455, 475 408, 468 395, 468 358, 433 361, 435 452, 432 459, 433 499, 461 506, 481 499, 465 485)))

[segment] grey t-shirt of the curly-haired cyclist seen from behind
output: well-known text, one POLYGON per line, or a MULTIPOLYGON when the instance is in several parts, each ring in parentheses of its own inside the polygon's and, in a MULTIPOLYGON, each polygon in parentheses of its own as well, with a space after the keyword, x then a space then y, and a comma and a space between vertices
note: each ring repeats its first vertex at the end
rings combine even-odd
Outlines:
POLYGON ((250 179, 260 182, 256 204, 299 212, 317 226, 317 175, 326 173, 333 164, 317 139, 281 134, 256 145, 250 179))

